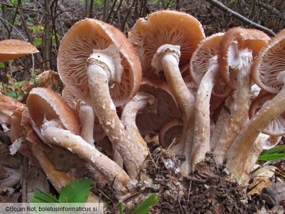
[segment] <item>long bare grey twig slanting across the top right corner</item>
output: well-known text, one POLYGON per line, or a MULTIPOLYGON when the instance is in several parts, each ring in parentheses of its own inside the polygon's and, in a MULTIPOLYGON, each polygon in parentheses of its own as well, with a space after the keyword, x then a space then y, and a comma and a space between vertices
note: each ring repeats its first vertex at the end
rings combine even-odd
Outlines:
POLYGON ((222 11, 229 13, 230 16, 233 16, 233 17, 241 20, 242 22, 244 22, 244 23, 246 23, 246 24, 248 24, 248 25, 250 25, 250 26, 252 26, 252 27, 254 27, 256 29, 264 31, 269 36, 274 37, 276 35, 272 30, 270 30, 270 29, 268 29, 268 28, 266 28, 266 27, 264 27, 264 26, 262 26, 260 24, 257 24, 255 22, 253 22, 253 21, 243 17, 242 15, 234 12, 233 10, 229 9, 228 7, 226 7, 224 4, 222 4, 221 2, 219 2, 217 0, 206 0, 206 1, 208 1, 210 4, 212 4, 214 6, 218 7, 222 11))

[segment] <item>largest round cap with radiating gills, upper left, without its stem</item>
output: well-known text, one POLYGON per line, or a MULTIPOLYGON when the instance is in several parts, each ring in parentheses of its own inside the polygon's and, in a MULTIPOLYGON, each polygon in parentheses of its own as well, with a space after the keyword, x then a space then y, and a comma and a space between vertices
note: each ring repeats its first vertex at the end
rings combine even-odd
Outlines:
POLYGON ((58 51, 57 68, 60 78, 81 100, 92 104, 86 61, 93 50, 104 50, 110 44, 119 47, 123 74, 110 89, 115 106, 133 97, 141 80, 141 66, 130 42, 123 33, 103 21, 84 19, 77 22, 63 37, 58 51))

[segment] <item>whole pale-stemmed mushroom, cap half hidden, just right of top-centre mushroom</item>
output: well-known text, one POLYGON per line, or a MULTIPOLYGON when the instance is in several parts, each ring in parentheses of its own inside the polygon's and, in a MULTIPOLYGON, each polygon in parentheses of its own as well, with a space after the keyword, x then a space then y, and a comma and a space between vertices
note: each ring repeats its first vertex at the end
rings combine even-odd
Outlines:
MULTIPOLYGON (((203 39, 190 59, 190 75, 199 85, 195 102, 195 125, 191 164, 200 162, 210 150, 210 98, 228 97, 231 89, 219 75, 219 43, 224 33, 214 34, 203 39), (215 92, 215 93, 214 93, 215 92)), ((223 99, 215 99, 222 101, 223 99)), ((221 103, 219 103, 221 104, 221 103)), ((218 104, 218 105, 219 105, 218 104)))

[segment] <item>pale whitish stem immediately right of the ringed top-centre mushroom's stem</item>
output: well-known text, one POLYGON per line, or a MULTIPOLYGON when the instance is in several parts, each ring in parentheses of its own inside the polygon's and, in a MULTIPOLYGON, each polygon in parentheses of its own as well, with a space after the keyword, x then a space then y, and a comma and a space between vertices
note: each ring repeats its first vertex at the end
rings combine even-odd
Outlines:
POLYGON ((210 151, 210 97, 219 77, 218 57, 210 59, 208 71, 202 78, 195 103, 194 139, 192 144, 191 168, 194 164, 205 158, 206 152, 210 151))

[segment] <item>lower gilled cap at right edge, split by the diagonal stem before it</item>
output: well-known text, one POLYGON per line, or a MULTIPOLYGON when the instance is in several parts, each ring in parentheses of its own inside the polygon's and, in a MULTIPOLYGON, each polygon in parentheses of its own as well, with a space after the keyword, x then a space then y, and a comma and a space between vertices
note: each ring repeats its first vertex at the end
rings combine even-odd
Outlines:
MULTIPOLYGON (((256 97, 250 105, 248 116, 249 119, 253 117, 253 115, 258 113, 258 110, 267 102, 269 102, 274 94, 266 94, 263 96, 256 97)), ((266 129, 262 130, 262 133, 270 136, 284 136, 285 135, 285 112, 280 116, 276 117, 272 120, 266 129)))

